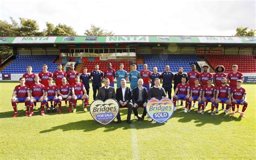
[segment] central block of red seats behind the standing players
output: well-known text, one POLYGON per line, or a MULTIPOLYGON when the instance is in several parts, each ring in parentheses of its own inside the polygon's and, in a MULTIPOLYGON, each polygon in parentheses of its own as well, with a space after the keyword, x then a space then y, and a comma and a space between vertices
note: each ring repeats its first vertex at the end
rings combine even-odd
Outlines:
POLYGON ((83 69, 86 67, 88 72, 91 72, 95 70, 95 65, 99 64, 99 70, 105 71, 107 69, 107 63, 112 64, 112 68, 115 70, 119 70, 119 64, 123 63, 124 64, 124 70, 127 72, 130 72, 130 62, 129 61, 87 61, 83 63, 83 67, 81 68, 80 72, 83 72, 83 69))

